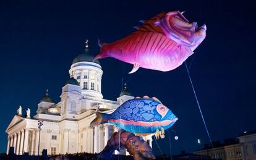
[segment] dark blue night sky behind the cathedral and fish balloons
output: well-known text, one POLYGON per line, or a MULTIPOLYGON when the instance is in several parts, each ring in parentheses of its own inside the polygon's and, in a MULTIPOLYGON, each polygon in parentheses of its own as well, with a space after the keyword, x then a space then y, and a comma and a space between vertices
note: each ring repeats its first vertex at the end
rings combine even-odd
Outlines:
MULTIPOLYGON (((58 103, 68 70, 84 41, 90 54, 100 51, 98 38, 119 40, 134 32, 141 19, 161 11, 186 11, 185 17, 207 25, 207 37, 195 50, 190 74, 213 141, 236 138, 256 129, 255 8, 246 1, 0 1, 0 153, 6 152, 5 130, 22 105, 35 115, 48 88, 58 103)), ((170 72, 140 68, 116 59, 101 59, 102 93, 116 100, 122 77, 134 96, 156 96, 179 118, 171 132, 173 154, 209 143, 200 112, 182 64, 170 72)), ((168 133, 158 140, 169 154, 168 133)), ((154 153, 160 154, 156 143, 154 153)))

